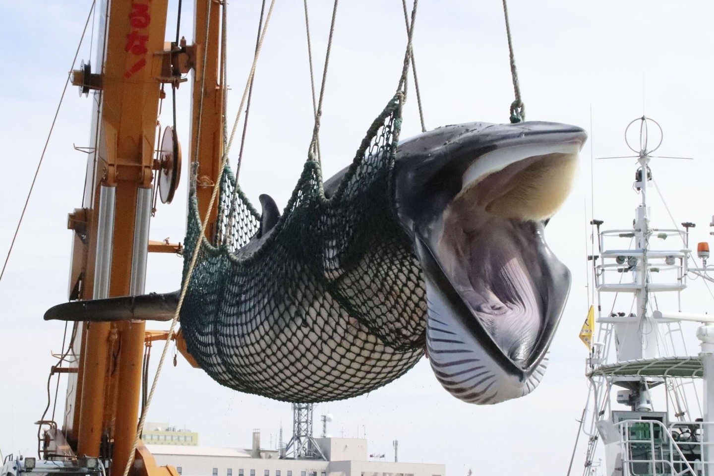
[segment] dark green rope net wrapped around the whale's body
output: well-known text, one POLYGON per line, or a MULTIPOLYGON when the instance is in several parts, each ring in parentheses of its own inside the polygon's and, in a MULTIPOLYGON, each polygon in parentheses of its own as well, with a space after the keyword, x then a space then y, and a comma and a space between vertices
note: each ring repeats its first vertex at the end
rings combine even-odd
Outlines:
MULTIPOLYGON (((223 174, 218 245, 201 240, 181 309, 188 351, 211 378, 276 400, 323 402, 379 388, 421 358, 423 278, 391 193, 400 123, 396 96, 328 197, 319 164, 307 161, 260 241, 260 214, 223 174)), ((184 279, 199 233, 192 190, 184 279)))

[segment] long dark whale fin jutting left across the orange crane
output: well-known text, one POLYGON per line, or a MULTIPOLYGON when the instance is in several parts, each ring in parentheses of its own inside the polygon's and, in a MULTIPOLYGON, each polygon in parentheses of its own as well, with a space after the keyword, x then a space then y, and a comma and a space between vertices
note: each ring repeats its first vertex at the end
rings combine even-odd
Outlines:
POLYGON ((171 320, 180 291, 165 294, 79 300, 49 308, 44 320, 112 322, 116 320, 171 320))

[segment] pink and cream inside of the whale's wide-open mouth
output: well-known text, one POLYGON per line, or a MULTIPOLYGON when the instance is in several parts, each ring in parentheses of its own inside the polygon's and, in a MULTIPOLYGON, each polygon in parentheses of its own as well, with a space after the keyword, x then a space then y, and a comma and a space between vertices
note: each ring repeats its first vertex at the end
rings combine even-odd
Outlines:
POLYGON ((560 263, 545 245, 543 221, 568 196, 580 144, 539 150, 545 147, 498 149, 473 163, 443 213, 433 249, 470 310, 466 319, 474 322, 463 324, 485 330, 491 353, 526 374, 545 353, 560 316, 548 305, 555 285, 549 268, 560 263))

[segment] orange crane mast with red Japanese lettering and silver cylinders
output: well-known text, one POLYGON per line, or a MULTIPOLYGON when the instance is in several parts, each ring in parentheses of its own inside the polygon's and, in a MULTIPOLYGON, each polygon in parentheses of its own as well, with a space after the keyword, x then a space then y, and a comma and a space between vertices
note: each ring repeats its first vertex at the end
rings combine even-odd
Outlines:
MULTIPOLYGON (((69 215, 74 230, 69 298, 90 300, 144 293, 152 214, 159 101, 164 84, 178 87, 192 71, 191 162, 198 163, 198 203, 206 216, 223 141, 223 85, 218 61, 221 2, 196 0, 193 36, 166 44, 168 0, 103 0, 96 72, 72 72, 94 109, 82 208, 69 215)), ((211 213, 213 223, 216 211, 211 213)), ((210 233, 213 226, 208 226, 210 233)), ((173 252, 171 245, 152 251, 173 252)), ((149 338, 143 321, 78 323, 74 332, 64 422, 46 433, 45 449, 109 462, 121 475, 139 420, 142 358, 149 338)), ((166 336, 171 338, 171 336, 166 336)), ((156 467, 140 445, 136 474, 176 474, 156 467)))

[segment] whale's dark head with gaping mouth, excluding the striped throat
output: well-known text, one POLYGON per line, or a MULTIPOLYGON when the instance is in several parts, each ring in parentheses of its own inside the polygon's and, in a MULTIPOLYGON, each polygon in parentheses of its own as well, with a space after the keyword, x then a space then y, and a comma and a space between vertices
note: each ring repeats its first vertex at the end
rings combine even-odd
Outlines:
POLYGON ((468 123, 400 143, 395 201, 427 275, 468 334, 509 375, 538 367, 570 273, 543 237, 586 134, 555 123, 468 123))

